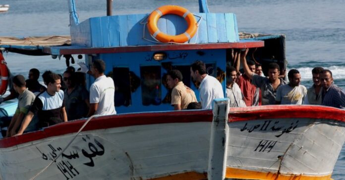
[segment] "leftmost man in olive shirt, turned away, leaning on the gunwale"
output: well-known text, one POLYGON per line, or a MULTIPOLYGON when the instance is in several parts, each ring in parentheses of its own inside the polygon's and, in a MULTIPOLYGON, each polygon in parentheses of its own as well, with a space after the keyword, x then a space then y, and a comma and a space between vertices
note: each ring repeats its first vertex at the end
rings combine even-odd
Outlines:
MULTIPOLYGON (((28 113, 31 104, 35 100, 35 95, 33 92, 25 88, 25 78, 22 75, 14 76, 12 79, 13 89, 19 93, 18 97, 18 106, 12 117, 12 120, 8 126, 6 137, 10 137, 17 133, 18 128, 20 127, 22 120, 25 115, 28 113)), ((30 125, 26 128, 25 132, 31 132, 37 130, 37 118, 34 118, 30 125)))

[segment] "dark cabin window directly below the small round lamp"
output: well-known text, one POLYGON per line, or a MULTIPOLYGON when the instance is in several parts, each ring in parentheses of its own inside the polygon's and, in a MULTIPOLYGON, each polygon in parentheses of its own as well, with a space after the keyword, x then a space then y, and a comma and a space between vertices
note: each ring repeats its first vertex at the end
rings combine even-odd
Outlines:
POLYGON ((141 66, 140 78, 142 104, 161 104, 161 66, 141 66))

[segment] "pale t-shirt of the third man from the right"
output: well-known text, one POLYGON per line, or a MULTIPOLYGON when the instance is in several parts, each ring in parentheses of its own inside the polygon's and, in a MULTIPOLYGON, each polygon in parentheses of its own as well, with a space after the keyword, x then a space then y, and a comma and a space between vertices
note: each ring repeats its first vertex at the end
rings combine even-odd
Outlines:
POLYGON ((281 104, 302 104, 307 94, 307 89, 303 85, 290 87, 282 85, 277 89, 276 101, 281 104))

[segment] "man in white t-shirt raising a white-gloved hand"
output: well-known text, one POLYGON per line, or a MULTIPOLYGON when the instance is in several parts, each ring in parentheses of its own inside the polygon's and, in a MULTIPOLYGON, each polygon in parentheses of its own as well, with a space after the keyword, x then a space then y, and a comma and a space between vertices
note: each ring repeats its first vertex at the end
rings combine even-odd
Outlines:
POLYGON ((87 117, 95 114, 116 114, 114 104, 115 86, 113 79, 104 75, 106 63, 101 59, 97 59, 92 63, 90 71, 85 63, 78 64, 81 67, 81 72, 90 73, 95 77, 95 82, 90 87, 90 109, 87 117))

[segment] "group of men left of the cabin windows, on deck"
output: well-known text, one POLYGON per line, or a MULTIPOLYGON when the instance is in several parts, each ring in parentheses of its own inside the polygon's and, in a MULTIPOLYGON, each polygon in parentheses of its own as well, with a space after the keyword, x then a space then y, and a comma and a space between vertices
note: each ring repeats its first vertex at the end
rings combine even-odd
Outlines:
POLYGON ((69 67, 63 76, 52 71, 44 72, 42 78, 47 88, 39 84, 40 72, 37 69, 30 70, 28 80, 22 75, 12 77, 10 94, 0 98, 0 103, 18 98, 18 106, 10 120, 6 137, 22 135, 67 120, 116 114, 114 82, 104 75, 104 61, 95 60, 90 70, 84 63, 79 65, 79 72, 69 67), (80 73, 94 76, 95 82, 90 92, 85 88, 85 80, 80 81, 80 77, 84 77, 80 73), (62 84, 64 90, 61 90, 62 84))

